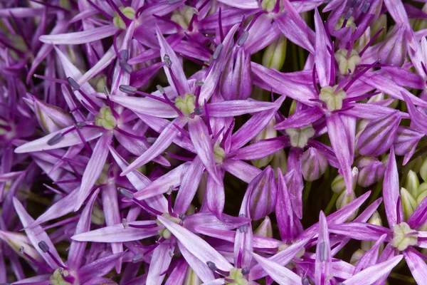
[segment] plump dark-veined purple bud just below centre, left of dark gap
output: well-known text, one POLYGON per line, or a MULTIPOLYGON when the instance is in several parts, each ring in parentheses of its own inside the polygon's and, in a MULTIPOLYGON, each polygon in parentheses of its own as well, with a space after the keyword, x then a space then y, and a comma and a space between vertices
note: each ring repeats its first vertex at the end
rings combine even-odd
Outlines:
POLYGON ((270 166, 266 167, 249 183, 247 191, 251 191, 249 211, 252 219, 261 219, 273 211, 277 193, 276 187, 274 172, 270 166))

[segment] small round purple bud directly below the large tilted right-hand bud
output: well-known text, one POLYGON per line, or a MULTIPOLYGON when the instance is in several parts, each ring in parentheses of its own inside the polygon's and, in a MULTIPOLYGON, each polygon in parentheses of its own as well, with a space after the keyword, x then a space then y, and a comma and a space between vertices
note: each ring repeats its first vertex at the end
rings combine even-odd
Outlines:
POLYGON ((357 168, 359 168, 357 184, 361 187, 369 187, 378 182, 384 177, 384 171, 386 170, 384 164, 375 157, 362 157, 357 162, 357 168))

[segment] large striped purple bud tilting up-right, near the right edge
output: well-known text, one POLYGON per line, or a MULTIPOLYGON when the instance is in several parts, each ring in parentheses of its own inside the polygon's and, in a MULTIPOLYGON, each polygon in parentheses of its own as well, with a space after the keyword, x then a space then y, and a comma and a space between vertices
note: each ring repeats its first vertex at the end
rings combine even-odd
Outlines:
POLYGON ((389 150, 396 137, 400 120, 397 112, 371 120, 357 140, 359 153, 377 156, 389 150))

